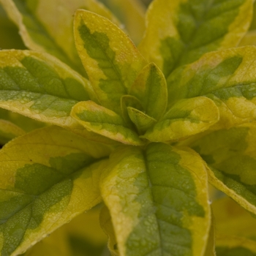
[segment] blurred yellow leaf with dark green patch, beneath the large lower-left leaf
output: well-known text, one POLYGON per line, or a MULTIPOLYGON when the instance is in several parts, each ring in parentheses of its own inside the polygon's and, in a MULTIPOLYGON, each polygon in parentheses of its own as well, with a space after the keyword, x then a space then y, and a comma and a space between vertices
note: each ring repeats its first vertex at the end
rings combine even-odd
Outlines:
POLYGON ((94 256, 105 249, 107 236, 99 226, 99 210, 94 207, 55 230, 32 246, 23 256, 94 256))

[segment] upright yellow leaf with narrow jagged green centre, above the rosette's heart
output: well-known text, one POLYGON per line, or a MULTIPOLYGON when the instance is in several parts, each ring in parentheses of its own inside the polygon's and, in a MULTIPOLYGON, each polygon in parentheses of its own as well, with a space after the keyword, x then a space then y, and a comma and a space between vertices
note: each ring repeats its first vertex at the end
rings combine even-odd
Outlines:
POLYGON ((127 94, 146 61, 110 20, 92 12, 75 13, 75 43, 101 105, 121 114, 127 94))

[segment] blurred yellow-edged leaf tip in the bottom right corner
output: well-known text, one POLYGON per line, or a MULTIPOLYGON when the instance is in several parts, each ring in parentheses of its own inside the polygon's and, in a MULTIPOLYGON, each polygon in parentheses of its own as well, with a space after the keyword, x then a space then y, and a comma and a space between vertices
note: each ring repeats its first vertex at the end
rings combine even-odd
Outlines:
POLYGON ((224 236, 217 239, 217 256, 256 256, 256 242, 239 237, 224 236))

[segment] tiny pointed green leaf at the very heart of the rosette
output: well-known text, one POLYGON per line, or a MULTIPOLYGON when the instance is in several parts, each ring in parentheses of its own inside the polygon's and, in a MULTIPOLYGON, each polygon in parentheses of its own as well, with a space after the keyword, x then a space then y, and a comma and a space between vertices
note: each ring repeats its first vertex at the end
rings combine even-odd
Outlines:
POLYGON ((144 133, 149 127, 157 123, 156 119, 146 115, 146 113, 143 113, 136 108, 128 107, 127 110, 129 118, 131 118, 139 133, 144 133))

